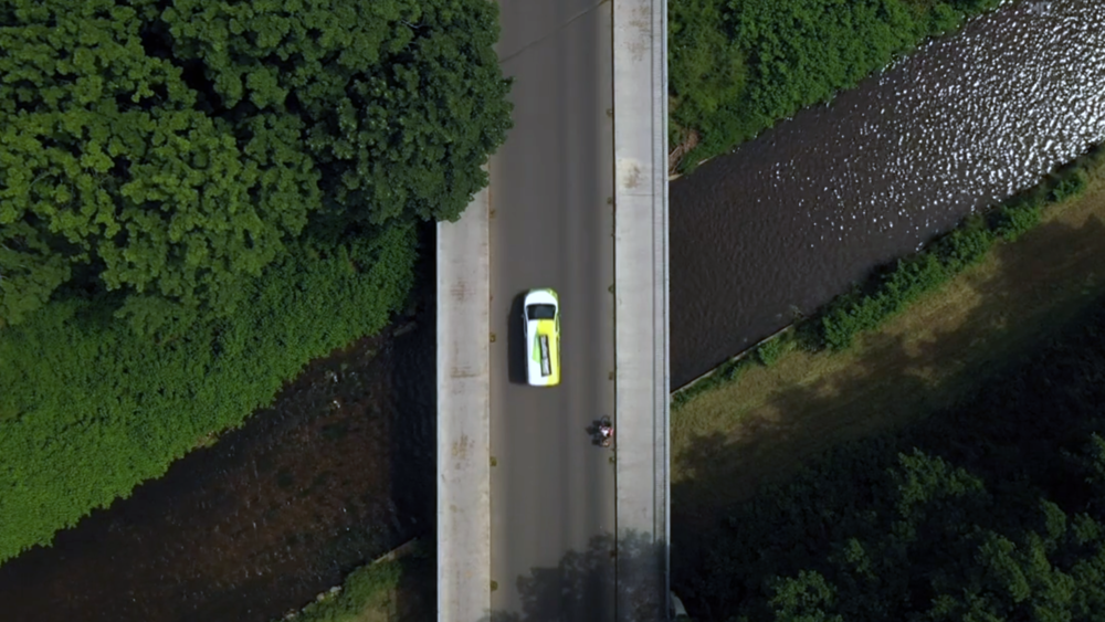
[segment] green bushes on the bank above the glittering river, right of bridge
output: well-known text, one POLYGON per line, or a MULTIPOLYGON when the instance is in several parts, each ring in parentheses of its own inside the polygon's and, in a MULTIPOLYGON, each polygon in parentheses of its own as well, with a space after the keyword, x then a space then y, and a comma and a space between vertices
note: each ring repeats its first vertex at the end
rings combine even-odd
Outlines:
POLYGON ((830 101, 999 0, 672 0, 670 172, 830 101))

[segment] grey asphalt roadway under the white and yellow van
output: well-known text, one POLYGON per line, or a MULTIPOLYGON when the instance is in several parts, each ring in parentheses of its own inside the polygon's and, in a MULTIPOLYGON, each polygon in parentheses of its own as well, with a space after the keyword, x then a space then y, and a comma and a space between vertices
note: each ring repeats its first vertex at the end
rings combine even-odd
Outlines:
POLYGON ((491 161, 493 619, 612 620, 614 468, 588 432, 614 407, 611 3, 499 8, 515 125, 491 161), (556 388, 525 384, 532 287, 560 295, 556 388))

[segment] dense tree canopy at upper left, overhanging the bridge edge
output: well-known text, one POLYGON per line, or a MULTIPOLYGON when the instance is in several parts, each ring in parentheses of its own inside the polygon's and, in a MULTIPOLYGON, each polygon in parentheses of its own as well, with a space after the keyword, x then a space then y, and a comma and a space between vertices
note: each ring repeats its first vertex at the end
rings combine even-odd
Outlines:
POLYGON ((495 11, 0 0, 0 324, 229 313, 312 222, 457 218, 511 123, 495 11))

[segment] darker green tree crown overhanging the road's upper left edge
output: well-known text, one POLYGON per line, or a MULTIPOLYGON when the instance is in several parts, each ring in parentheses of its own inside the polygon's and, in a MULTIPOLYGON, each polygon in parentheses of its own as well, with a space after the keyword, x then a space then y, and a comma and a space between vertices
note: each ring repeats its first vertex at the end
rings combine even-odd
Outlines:
POLYGON ((480 165, 511 124, 496 11, 484 0, 177 0, 162 17, 173 54, 202 60, 213 99, 299 118, 328 194, 379 224, 455 220, 486 185, 480 165))

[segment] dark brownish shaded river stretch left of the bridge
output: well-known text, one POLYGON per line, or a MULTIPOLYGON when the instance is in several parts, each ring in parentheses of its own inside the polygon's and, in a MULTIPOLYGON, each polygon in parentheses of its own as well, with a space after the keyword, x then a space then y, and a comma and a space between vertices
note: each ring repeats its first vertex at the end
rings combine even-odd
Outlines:
POLYGON ((0 620, 267 622, 432 534, 431 315, 313 362, 241 429, 0 566, 0 620))

